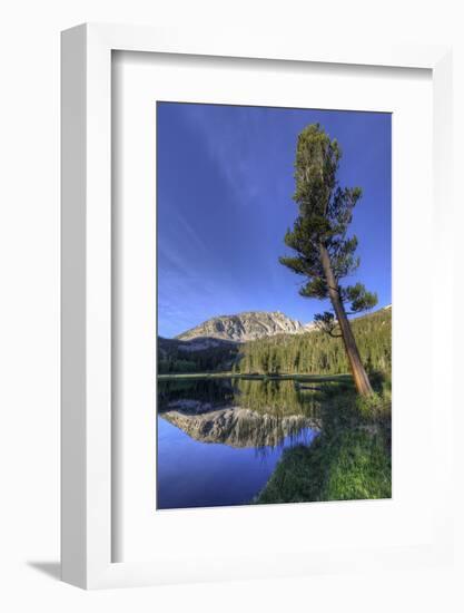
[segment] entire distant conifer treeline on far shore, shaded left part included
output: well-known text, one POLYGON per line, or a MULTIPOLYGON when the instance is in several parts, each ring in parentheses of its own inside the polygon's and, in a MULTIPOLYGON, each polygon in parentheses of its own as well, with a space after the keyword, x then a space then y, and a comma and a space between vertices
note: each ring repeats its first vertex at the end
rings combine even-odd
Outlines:
MULTIPOLYGON (((366 368, 392 368, 392 310, 383 309, 352 322, 366 368)), ((240 346, 225 344, 182 351, 175 341, 159 340, 158 373, 233 370, 249 373, 299 372, 338 374, 349 371, 342 339, 324 332, 279 334, 240 346)))

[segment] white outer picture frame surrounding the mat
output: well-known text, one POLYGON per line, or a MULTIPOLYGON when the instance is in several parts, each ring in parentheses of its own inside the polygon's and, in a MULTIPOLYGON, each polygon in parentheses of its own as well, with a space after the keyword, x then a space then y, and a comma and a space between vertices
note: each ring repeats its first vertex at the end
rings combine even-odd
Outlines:
MULTIPOLYGON (((327 46, 256 32, 189 32, 152 28, 83 25, 62 33, 62 578, 80 587, 115 587, 286 574, 273 561, 244 553, 230 564, 205 574, 195 552, 178 560, 112 562, 112 454, 111 437, 111 55, 112 51, 182 53, 229 58, 256 58, 423 68, 433 79, 434 223, 438 231, 440 262, 451 249, 446 223, 451 210, 451 50, 432 46, 327 46), (259 566, 256 565, 258 560, 259 566)), ((437 270, 440 266, 437 262, 437 270)), ((442 294, 450 295, 452 274, 441 276, 442 294)), ((434 305, 440 323, 441 305, 434 305)), ((451 323, 433 338, 434 350, 451 354, 451 323)), ((442 373, 441 373, 442 374, 442 373)), ((443 373, 443 376, 445 376, 443 373)), ((444 386, 444 444, 451 431, 452 398, 444 386)), ((451 466, 448 456, 441 468, 451 466)), ((434 525, 427 545, 401 551, 378 548, 320 551, 298 561, 300 571, 438 563, 450 555, 451 533, 446 478, 434 507, 434 525)), ((168 552, 166 552, 168 554, 168 552)), ((214 561, 213 561, 214 563, 214 561)), ((287 574, 288 574, 287 573, 287 574)))

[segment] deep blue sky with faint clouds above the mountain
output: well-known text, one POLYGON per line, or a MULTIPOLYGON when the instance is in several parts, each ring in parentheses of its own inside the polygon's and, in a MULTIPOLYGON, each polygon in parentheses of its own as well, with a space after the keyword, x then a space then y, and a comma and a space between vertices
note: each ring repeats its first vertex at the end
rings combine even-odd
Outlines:
POLYGON ((392 302, 389 114, 158 103, 158 334, 243 311, 306 323, 327 306, 299 296, 303 279, 278 263, 297 215, 297 137, 315 121, 342 146, 340 184, 363 188, 349 282, 392 302))

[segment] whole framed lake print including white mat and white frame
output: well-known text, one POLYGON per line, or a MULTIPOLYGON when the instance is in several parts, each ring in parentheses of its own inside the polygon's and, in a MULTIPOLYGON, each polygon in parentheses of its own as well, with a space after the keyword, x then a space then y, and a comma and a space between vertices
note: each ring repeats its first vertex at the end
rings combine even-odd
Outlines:
POLYGON ((63 580, 447 558, 450 87, 446 48, 63 32, 63 580))

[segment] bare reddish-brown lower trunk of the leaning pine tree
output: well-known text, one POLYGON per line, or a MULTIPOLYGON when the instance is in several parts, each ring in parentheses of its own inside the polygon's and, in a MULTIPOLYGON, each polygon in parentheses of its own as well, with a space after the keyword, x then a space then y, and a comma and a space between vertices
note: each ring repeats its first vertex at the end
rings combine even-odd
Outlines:
POLYGON ((345 306, 338 292, 338 283, 336 282, 332 270, 330 259, 324 245, 319 245, 319 251, 320 262, 323 264, 324 274, 327 281, 328 295, 334 308, 338 325, 340 327, 342 338, 345 344, 345 351, 348 357, 356 389, 361 396, 369 396, 373 393, 373 389, 371 387, 367 372, 361 361, 359 351, 357 349, 349 320, 346 317, 345 306))

